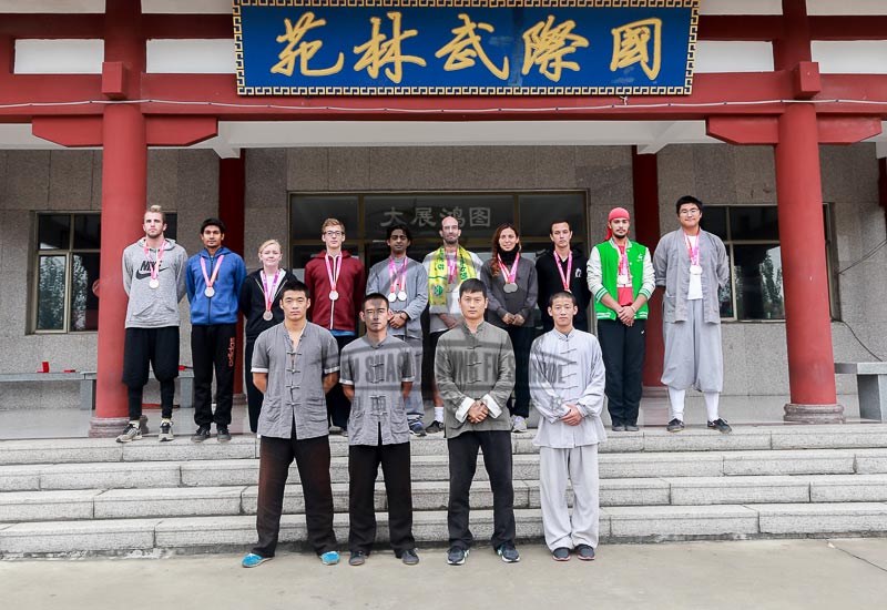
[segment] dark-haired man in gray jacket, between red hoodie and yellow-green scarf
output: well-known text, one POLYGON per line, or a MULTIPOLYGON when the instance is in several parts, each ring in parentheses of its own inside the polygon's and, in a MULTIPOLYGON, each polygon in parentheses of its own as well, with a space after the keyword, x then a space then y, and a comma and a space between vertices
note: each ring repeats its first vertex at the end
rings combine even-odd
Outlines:
POLYGON ((388 298, 388 334, 405 342, 412 350, 416 380, 407 398, 409 431, 425 436, 422 417, 422 387, 419 379, 422 370, 421 315, 428 305, 428 273, 418 261, 407 256, 412 234, 405 224, 391 224, 387 231, 390 255, 373 265, 367 279, 367 294, 379 293, 388 298))

